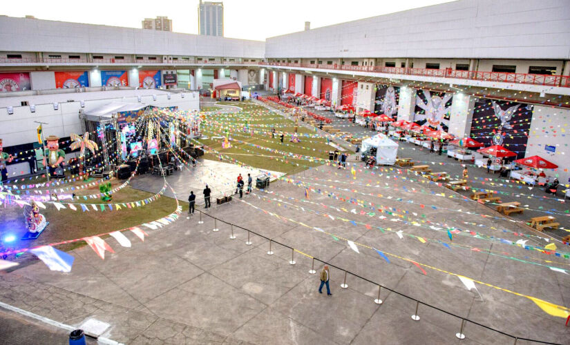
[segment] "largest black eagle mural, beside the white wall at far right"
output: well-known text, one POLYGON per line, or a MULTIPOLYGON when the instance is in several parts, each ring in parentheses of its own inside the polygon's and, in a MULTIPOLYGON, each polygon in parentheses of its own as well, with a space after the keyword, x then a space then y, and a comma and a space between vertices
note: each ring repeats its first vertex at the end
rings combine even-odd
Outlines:
POLYGON ((471 137, 485 146, 502 145, 524 158, 533 117, 526 103, 477 99, 471 122, 471 137))

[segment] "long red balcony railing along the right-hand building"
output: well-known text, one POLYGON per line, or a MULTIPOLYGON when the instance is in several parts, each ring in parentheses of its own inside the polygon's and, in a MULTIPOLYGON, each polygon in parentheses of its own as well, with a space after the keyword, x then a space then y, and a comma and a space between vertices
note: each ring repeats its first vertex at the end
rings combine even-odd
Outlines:
POLYGON ((263 66, 284 66, 294 68, 316 68, 323 70, 350 70, 355 72, 376 72, 390 75, 417 75, 421 77, 474 79, 480 81, 497 81, 500 83, 522 83, 544 86, 570 87, 570 76, 567 75, 531 75, 526 73, 484 72, 477 70, 435 70, 429 68, 352 66, 316 63, 269 63, 260 62, 263 66))

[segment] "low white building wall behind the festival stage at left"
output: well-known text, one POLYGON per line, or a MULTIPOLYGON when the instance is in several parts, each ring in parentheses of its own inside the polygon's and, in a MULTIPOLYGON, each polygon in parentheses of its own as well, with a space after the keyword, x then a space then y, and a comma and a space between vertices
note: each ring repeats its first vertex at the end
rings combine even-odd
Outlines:
MULTIPOLYGON (((171 99, 168 99, 165 92, 156 95, 156 97, 156 101, 153 101, 152 95, 144 95, 141 96, 141 101, 145 104, 162 107, 178 106, 180 110, 200 108, 200 98, 197 92, 184 93, 184 98, 182 98, 180 93, 173 93, 171 94, 171 99)), ((111 101, 138 102, 135 95, 120 99, 94 99, 85 101, 84 109, 91 110, 111 103, 111 101)), ((61 102, 58 110, 54 110, 51 103, 39 104, 36 106, 35 112, 30 112, 29 106, 17 106, 14 107, 12 115, 8 115, 6 108, 0 108, 0 138, 3 139, 3 146, 28 144, 37 141, 37 124, 34 121, 48 123, 44 125, 44 135, 46 137, 48 135, 68 137, 71 133, 80 134, 79 109, 81 109, 79 101, 61 102)))

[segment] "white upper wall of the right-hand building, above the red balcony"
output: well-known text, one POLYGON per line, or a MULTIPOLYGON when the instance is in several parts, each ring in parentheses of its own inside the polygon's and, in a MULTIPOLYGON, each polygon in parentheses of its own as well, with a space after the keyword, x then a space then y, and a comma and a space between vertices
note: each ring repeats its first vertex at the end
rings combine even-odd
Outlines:
POLYGON ((568 0, 459 0, 271 37, 265 56, 569 59, 568 0))

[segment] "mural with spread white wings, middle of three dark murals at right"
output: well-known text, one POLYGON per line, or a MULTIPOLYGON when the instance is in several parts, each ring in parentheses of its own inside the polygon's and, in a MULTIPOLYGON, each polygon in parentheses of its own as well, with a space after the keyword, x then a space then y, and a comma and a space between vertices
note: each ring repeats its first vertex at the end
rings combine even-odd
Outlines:
POLYGON ((447 131, 453 94, 417 90, 414 122, 447 131))

